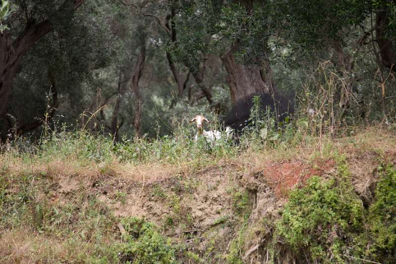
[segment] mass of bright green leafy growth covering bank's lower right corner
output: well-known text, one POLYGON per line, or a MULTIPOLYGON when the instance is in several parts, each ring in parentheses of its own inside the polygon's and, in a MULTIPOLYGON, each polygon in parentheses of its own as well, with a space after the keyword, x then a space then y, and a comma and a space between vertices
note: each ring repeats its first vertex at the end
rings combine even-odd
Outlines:
POLYGON ((290 193, 276 234, 301 261, 346 263, 396 259, 396 170, 382 169, 375 201, 365 209, 349 181, 344 158, 339 175, 312 177, 290 193))

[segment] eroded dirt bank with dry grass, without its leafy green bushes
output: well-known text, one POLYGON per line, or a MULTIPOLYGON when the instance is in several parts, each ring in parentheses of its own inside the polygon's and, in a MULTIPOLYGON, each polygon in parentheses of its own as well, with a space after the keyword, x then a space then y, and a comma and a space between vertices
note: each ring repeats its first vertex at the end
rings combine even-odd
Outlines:
POLYGON ((343 180, 342 156, 343 173, 367 208, 381 166, 396 164, 392 149, 344 146, 329 155, 271 158, 244 154, 184 166, 9 163, 1 171, 2 206, 10 213, 2 222, 0 258, 2 263, 90 263, 89 256, 104 254, 95 245, 111 251, 108 245, 123 240, 120 219, 139 217, 170 238, 182 263, 294 263, 293 251, 274 234, 290 190, 315 175, 343 180))

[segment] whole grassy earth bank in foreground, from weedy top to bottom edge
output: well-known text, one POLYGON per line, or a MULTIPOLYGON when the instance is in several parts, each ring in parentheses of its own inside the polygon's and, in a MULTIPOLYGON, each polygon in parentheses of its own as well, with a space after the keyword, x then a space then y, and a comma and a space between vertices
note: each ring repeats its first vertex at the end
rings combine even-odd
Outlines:
POLYGON ((396 134, 286 132, 6 145, 0 263, 394 263, 396 134))

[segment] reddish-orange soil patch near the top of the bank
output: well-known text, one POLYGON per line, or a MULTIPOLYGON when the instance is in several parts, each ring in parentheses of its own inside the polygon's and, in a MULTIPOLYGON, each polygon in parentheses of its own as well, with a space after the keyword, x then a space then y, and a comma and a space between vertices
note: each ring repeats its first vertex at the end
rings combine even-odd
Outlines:
POLYGON ((264 176, 277 196, 287 196, 297 184, 305 184, 314 175, 323 175, 334 169, 333 159, 317 162, 315 166, 299 160, 273 163, 264 168, 264 176))

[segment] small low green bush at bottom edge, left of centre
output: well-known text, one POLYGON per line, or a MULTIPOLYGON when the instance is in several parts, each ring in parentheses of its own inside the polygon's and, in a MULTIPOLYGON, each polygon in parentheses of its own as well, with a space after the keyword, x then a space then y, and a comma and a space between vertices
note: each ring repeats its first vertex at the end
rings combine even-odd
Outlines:
POLYGON ((154 224, 136 217, 124 218, 121 224, 125 228, 124 243, 118 246, 122 263, 176 264, 170 240, 162 237, 154 224))

